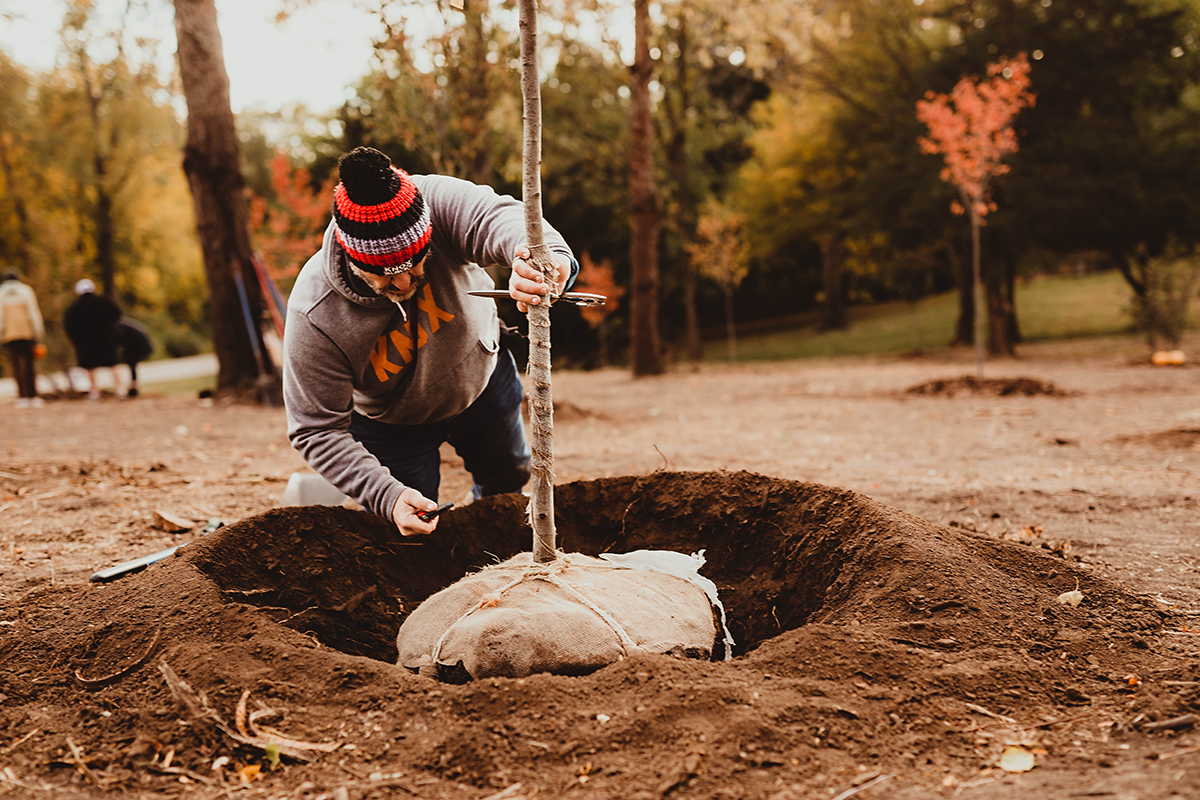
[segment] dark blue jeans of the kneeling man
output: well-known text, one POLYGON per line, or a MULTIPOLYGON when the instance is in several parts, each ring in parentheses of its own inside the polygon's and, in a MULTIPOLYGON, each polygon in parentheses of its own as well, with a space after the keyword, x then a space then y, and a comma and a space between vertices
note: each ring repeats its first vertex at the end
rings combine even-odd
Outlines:
POLYGON ((378 458, 392 477, 431 500, 442 483, 442 443, 462 456, 474 479, 475 498, 520 492, 529 482, 532 453, 521 419, 524 389, 512 355, 500 350, 484 393, 450 420, 425 425, 389 425, 350 415, 350 435, 378 458))

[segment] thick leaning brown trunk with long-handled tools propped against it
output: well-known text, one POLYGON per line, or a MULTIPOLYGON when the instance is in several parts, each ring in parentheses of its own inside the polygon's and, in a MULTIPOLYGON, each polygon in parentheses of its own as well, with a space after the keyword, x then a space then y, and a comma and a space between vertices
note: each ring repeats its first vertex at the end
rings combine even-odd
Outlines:
POLYGON ((259 374, 256 345, 263 354, 264 373, 274 374, 275 369, 262 348, 258 326, 263 300, 251 263, 245 180, 238 161, 238 132, 217 10, 215 0, 174 1, 179 73, 187 100, 184 172, 192 190, 209 283, 212 349, 220 365, 217 391, 245 390, 254 386, 259 374), (254 321, 254 330, 248 332, 234 278, 239 270, 254 321))

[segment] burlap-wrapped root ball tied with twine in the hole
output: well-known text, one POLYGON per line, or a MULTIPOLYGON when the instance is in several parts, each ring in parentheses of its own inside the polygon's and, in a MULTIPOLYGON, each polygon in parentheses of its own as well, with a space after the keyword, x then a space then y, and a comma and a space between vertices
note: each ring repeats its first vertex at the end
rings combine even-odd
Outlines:
MULTIPOLYGON (((702 555, 660 554, 703 564, 702 555)), ((400 627, 397 663, 466 682, 539 672, 581 675, 636 650, 709 658, 718 633, 714 602, 695 581, 668 572, 620 569, 576 553, 535 565, 532 553, 521 553, 422 602, 400 627)))

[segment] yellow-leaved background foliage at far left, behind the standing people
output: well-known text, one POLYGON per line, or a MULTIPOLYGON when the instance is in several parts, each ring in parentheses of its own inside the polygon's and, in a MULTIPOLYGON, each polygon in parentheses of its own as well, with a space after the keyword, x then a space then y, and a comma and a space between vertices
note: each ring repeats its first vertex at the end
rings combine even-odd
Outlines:
POLYGON ((47 366, 60 369, 74 361, 62 311, 85 276, 151 327, 158 353, 209 347, 199 249, 180 236, 194 229, 182 128, 155 71, 158 42, 132 37, 128 13, 100 19, 65 4, 60 56, 44 73, 0 53, 0 253, 38 291, 47 366))

